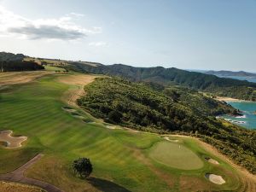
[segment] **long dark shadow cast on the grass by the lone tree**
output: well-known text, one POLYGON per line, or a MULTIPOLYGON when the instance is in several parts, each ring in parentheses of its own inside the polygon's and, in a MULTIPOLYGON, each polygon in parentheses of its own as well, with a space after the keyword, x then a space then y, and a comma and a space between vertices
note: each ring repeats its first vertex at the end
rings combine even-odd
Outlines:
POLYGON ((116 183, 102 178, 90 177, 88 178, 88 182, 96 187, 96 189, 102 190, 103 192, 131 192, 116 183))

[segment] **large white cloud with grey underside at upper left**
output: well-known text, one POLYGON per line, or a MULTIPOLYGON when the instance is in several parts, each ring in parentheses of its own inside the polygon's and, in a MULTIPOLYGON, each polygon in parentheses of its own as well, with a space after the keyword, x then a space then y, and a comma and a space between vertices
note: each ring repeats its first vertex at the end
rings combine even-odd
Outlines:
POLYGON ((76 13, 58 19, 29 20, 0 6, 0 35, 27 39, 75 40, 101 33, 101 27, 85 28, 73 23, 76 13))

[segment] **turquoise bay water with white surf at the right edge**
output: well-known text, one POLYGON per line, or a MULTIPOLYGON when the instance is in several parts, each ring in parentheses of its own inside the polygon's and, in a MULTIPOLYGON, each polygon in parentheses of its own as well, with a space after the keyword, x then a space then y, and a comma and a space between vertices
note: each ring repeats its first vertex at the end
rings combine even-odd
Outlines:
POLYGON ((241 125, 248 129, 256 130, 256 102, 227 102, 233 108, 237 108, 241 111, 242 115, 233 117, 230 115, 224 115, 224 119, 229 120, 230 122, 241 125))

